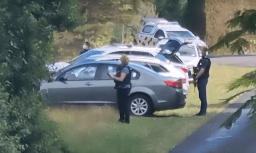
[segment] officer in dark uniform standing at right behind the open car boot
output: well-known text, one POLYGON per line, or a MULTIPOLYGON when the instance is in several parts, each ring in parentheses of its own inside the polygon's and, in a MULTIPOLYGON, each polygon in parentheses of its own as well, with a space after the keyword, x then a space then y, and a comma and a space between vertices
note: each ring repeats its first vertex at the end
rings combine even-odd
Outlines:
POLYGON ((197 116, 205 116, 207 109, 207 98, 206 98, 206 85, 209 78, 209 70, 211 67, 211 61, 209 58, 205 57, 207 52, 207 47, 201 47, 202 58, 198 62, 197 68, 198 73, 194 78, 194 81, 197 81, 197 87, 199 92, 199 99, 201 101, 201 109, 197 116))

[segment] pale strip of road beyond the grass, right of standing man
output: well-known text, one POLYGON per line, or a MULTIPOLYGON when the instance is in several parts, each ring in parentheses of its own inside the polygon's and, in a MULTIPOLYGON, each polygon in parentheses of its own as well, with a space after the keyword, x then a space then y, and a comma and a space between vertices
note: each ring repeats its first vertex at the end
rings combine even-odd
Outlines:
POLYGON ((209 57, 211 58, 211 62, 217 65, 256 67, 256 55, 209 55, 209 57))

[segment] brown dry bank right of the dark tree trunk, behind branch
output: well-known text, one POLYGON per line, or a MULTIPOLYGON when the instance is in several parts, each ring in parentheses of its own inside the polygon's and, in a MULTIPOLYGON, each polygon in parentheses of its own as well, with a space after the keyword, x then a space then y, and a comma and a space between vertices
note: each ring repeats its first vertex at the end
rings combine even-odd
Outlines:
MULTIPOLYGON (((256 3, 252 0, 205 0, 205 12, 206 12, 206 31, 209 46, 217 43, 218 38, 224 35, 226 32, 230 32, 225 23, 233 18, 233 15, 238 10, 250 10, 255 9, 256 3)), ((255 36, 246 37, 251 44, 251 47, 245 50, 249 50, 248 54, 256 52, 255 36)), ((228 54, 226 48, 219 49, 218 54, 228 54)))

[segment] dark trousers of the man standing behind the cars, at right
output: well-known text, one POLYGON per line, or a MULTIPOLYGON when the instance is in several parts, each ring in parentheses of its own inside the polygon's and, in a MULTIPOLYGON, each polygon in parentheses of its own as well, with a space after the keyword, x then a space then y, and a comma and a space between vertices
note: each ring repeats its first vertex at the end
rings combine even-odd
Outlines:
POLYGON ((208 83, 208 78, 199 78, 197 81, 197 88, 199 92, 199 99, 201 101, 201 109, 200 112, 201 114, 206 113, 207 109, 207 98, 206 98, 206 85, 208 83))

